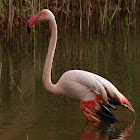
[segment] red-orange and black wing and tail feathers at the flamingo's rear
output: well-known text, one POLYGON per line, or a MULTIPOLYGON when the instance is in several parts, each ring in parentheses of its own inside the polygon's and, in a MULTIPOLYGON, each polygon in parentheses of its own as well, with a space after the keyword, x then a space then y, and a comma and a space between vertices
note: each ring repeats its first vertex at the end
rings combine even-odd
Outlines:
POLYGON ((117 121, 117 118, 115 118, 111 109, 117 110, 117 108, 113 106, 112 104, 122 105, 130 109, 131 111, 133 111, 133 113, 136 116, 136 113, 133 107, 131 106, 127 98, 123 95, 122 95, 121 102, 115 98, 109 97, 108 103, 104 102, 103 99, 99 95, 96 95, 96 98, 94 100, 81 101, 80 107, 85 117, 89 121, 96 121, 96 122, 106 121, 106 122, 114 123, 117 121))

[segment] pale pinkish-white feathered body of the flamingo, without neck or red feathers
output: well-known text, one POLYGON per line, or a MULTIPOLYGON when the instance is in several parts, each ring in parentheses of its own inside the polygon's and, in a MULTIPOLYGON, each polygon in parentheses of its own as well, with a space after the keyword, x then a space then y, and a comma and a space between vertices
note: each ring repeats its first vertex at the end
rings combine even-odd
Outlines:
POLYGON ((108 80, 83 70, 70 70, 65 72, 57 84, 63 88, 64 96, 80 101, 94 100, 96 95, 100 94, 104 101, 107 102, 106 89, 108 89, 111 95, 120 95, 119 98, 122 97, 120 92, 108 80))

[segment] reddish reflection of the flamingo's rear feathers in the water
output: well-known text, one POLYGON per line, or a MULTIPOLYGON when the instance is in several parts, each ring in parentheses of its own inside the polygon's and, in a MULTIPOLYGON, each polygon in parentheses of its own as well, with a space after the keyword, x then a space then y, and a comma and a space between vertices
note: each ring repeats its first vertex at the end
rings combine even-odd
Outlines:
POLYGON ((110 123, 87 122, 81 133, 81 140, 126 139, 131 135, 135 120, 123 127, 110 123))

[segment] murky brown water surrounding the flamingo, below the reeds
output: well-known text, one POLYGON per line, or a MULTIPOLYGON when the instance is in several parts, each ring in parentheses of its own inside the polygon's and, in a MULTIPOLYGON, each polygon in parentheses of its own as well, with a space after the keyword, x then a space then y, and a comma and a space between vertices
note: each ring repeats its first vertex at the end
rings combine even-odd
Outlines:
MULTIPOLYGON (((26 27, 10 43, 0 38, 0 139, 2 140, 93 140, 139 139, 140 136, 140 30, 130 29, 128 40, 123 23, 110 36, 94 28, 80 34, 76 24, 59 28, 52 81, 70 69, 84 69, 111 81, 127 96, 137 117, 118 107, 117 123, 86 122, 79 102, 55 96, 42 85, 42 70, 49 34, 27 35, 26 27), (34 38, 34 39, 33 39, 34 38)), ((1 33, 1 36, 4 33, 1 33)))

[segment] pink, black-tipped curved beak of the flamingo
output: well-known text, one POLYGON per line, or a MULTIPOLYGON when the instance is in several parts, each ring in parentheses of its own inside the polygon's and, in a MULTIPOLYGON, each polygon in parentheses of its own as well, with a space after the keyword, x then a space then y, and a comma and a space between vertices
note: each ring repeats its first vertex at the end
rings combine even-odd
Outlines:
POLYGON ((39 20, 39 18, 40 18, 40 14, 37 14, 37 15, 31 17, 28 20, 28 25, 27 25, 28 34, 30 33, 31 28, 33 27, 33 25, 36 24, 36 22, 39 20))

